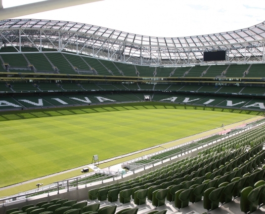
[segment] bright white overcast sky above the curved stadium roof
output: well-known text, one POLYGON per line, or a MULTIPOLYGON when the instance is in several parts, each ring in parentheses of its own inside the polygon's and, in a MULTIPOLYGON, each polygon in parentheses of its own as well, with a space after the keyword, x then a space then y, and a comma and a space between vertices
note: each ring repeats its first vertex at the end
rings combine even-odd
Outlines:
MULTIPOLYGON (((37 1, 42 0, 2 4, 37 1)), ((199 36, 264 22, 265 0, 103 0, 16 18, 79 22, 144 36, 199 36)))

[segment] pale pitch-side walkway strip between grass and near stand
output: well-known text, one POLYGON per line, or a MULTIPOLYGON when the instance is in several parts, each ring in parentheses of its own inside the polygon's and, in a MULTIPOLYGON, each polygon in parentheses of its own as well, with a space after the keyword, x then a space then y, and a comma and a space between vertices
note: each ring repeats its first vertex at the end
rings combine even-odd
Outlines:
MULTIPOLYGON (((122 162, 129 161, 129 160, 132 160, 132 159, 135 159, 135 158, 138 158, 138 157, 141 157, 143 155, 147 155, 147 154, 150 154, 150 153, 153 153, 153 152, 156 152, 156 151, 160 151, 160 150, 163 150, 164 148, 170 148, 170 147, 173 147, 173 146, 181 144, 181 143, 186 143, 186 142, 193 141, 193 140, 196 140, 196 139, 199 139, 199 138, 203 138, 205 136, 209 136, 209 135, 213 135, 213 134, 216 134, 216 133, 220 133, 220 132, 222 132, 224 130, 227 131, 227 130, 230 130, 231 128, 239 127, 239 126, 242 126, 243 124, 251 123, 253 121, 256 121, 256 120, 259 120, 259 119, 262 119, 262 118, 264 118, 264 117, 263 116, 252 117, 252 118, 247 119, 247 120, 242 120, 242 121, 239 121, 239 122, 236 122, 236 123, 232 123, 232 124, 226 125, 226 126, 224 126, 224 129, 221 129, 220 127, 217 127, 215 129, 212 129, 212 130, 209 130, 209 131, 205 131, 205 132, 202 132, 202 133, 198 133, 198 134, 195 134, 195 135, 192 135, 192 136, 188 136, 188 137, 185 137, 185 138, 181 138, 181 139, 178 139, 178 140, 175 140, 175 141, 162 143, 160 145, 156 145, 156 146, 152 146, 152 147, 149 147, 149 148, 146 148, 146 149, 134 151, 132 153, 128 153, 128 154, 124 154, 124 155, 117 156, 117 157, 114 157, 114 158, 109 158, 107 160, 99 161, 99 168, 96 168, 96 169, 94 168, 94 166, 92 164, 88 164, 88 165, 85 165, 85 166, 80 166, 80 167, 77 167, 77 168, 74 168, 74 169, 70 169, 70 170, 66 170, 66 171, 63 171, 63 172, 51 174, 51 175, 44 176, 44 177, 41 177, 41 178, 35 178, 35 179, 27 180, 27 181, 24 181, 24 182, 21 182, 21 183, 16 183, 16 184, 13 184, 13 185, 10 185, 10 186, 5 186, 5 187, 0 188, 0 191, 6 190, 6 189, 10 189, 10 188, 14 188, 14 187, 17 187, 17 186, 21 186, 23 184, 27 184, 27 183, 31 183, 31 182, 35 183, 36 181, 39 181, 39 180, 44 179, 44 178, 51 178, 51 177, 54 177, 54 176, 57 176, 57 175, 70 173, 70 172, 72 172, 74 170, 81 170, 81 169, 83 169, 85 167, 89 167, 90 169, 96 171, 96 170, 100 170, 100 169, 108 170, 108 167, 110 166, 110 171, 116 171, 119 168, 118 167, 119 164, 121 164, 122 162), (161 147, 161 146, 163 146, 163 147, 161 147)), ((99 154, 99 158, 100 158, 100 154, 99 154)), ((57 180, 55 180, 55 181, 57 181, 57 180)), ((32 186, 35 186, 35 184, 32 184, 32 186)), ((26 190, 24 190, 24 191, 26 191, 26 190)))

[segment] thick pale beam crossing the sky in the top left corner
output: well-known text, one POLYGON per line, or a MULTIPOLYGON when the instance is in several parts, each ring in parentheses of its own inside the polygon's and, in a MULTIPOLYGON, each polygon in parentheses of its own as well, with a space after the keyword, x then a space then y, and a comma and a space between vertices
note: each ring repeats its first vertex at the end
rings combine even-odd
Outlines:
POLYGON ((101 0, 44 0, 30 4, 3 8, 0 0, 0 20, 11 19, 19 16, 45 12, 49 10, 71 7, 80 4, 92 3, 101 0))

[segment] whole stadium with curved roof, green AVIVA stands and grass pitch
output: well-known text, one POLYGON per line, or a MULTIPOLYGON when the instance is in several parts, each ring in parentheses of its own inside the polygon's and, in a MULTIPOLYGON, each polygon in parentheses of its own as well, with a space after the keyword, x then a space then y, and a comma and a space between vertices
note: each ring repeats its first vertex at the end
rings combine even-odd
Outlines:
POLYGON ((0 214, 265 212, 265 22, 154 37, 5 18, 0 63, 0 214))

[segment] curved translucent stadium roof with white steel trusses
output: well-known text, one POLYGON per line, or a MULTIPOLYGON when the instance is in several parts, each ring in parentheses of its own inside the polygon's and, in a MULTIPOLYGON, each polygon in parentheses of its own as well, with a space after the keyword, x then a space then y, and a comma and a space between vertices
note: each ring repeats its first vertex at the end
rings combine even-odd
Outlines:
POLYGON ((39 51, 48 47, 141 65, 205 64, 203 52, 216 50, 226 50, 226 63, 253 63, 264 62, 265 22, 211 35, 153 37, 74 22, 3 20, 0 39, 1 45, 33 46, 39 51))

